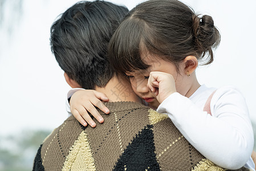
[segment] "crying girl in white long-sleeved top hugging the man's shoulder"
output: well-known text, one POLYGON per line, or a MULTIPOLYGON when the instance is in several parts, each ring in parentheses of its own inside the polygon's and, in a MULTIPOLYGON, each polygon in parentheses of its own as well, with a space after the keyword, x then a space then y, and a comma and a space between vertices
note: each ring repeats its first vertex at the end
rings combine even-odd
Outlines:
MULTIPOLYGON (((196 15, 176 0, 150 0, 132 9, 117 28, 109 43, 109 61, 150 106, 160 103, 157 111, 167 113, 206 158, 226 169, 254 169, 245 99, 235 87, 208 88, 196 78, 198 61, 212 63, 219 43, 209 15, 196 15)), ((70 103, 76 116, 85 110, 78 109, 84 93, 79 92, 70 103)), ((100 109, 105 110, 102 104, 100 109)))

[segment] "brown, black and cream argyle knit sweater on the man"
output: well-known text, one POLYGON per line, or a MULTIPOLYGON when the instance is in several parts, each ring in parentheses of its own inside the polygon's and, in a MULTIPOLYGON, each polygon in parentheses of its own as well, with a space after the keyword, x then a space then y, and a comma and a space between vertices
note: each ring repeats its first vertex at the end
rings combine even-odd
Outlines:
POLYGON ((95 128, 68 117, 38 149, 33 170, 225 170, 190 145, 167 115, 130 101, 105 105, 111 113, 99 111, 105 121, 95 128))

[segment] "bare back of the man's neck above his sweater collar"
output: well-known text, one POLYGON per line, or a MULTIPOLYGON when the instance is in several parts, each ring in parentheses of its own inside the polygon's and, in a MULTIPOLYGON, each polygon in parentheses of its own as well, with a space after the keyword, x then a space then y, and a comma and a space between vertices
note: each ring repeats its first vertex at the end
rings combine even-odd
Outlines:
POLYGON ((133 92, 131 83, 121 76, 113 76, 105 87, 96 87, 96 91, 105 93, 109 101, 137 101, 141 99, 133 92))

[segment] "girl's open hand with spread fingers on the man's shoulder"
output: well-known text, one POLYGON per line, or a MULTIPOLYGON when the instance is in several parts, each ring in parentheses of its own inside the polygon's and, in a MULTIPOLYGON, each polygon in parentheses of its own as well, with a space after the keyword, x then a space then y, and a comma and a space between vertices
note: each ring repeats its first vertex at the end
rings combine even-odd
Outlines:
POLYGON ((108 114, 109 109, 101 102, 101 100, 107 102, 108 97, 101 92, 97 92, 91 89, 84 89, 75 92, 70 99, 70 110, 72 115, 79 121, 80 124, 87 126, 87 123, 91 127, 96 127, 96 123, 92 120, 88 112, 95 117, 99 123, 103 123, 104 119, 97 111, 99 108, 104 113, 108 114))

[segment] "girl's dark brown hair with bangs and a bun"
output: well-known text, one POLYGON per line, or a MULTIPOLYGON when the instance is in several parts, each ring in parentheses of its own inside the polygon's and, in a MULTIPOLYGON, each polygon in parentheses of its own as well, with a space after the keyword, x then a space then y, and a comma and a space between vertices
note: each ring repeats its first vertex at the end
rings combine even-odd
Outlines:
POLYGON ((213 62, 220 33, 209 15, 197 15, 176 0, 149 0, 129 11, 109 43, 109 60, 119 72, 144 70, 141 55, 149 54, 176 65, 186 56, 213 62), (205 59, 206 58, 206 59, 205 59))

